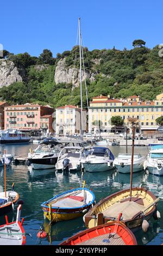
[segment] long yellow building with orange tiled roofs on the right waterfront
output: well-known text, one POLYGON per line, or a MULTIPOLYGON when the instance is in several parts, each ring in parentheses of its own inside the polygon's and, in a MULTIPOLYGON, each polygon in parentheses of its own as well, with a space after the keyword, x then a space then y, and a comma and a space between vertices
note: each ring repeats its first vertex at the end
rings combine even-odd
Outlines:
POLYGON ((110 132, 111 117, 117 115, 127 126, 129 117, 137 118, 136 132, 152 135, 159 127, 156 118, 163 115, 163 93, 154 101, 142 101, 136 95, 127 99, 110 99, 109 95, 93 97, 89 107, 89 132, 97 133, 99 129, 110 132))

